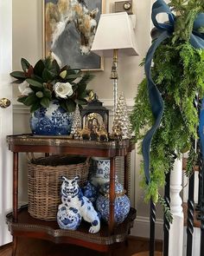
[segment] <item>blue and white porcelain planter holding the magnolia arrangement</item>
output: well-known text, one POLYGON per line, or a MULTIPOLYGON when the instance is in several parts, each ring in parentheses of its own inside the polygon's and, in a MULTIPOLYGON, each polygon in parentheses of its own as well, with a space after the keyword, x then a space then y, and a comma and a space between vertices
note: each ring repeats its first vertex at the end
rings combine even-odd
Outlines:
POLYGON ((48 108, 39 108, 31 115, 30 128, 33 135, 70 135, 73 113, 61 108, 57 100, 48 108))

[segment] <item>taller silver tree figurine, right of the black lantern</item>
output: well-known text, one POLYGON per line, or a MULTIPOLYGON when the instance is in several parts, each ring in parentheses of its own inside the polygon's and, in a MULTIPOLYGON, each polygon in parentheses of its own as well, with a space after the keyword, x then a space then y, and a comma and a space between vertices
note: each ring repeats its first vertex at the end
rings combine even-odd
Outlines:
POLYGON ((118 99, 112 135, 115 138, 131 139, 131 121, 123 93, 121 93, 118 99))

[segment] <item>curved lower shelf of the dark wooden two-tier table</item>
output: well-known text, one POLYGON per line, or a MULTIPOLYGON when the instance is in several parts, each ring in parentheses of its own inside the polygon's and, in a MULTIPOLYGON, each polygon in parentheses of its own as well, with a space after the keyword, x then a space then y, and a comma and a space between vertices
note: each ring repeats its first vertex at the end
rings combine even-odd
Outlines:
POLYGON ((27 207, 22 207, 18 212, 17 222, 13 221, 12 213, 7 214, 7 223, 10 233, 16 236, 26 236, 51 240, 54 243, 69 243, 86 246, 100 252, 106 252, 114 243, 123 242, 136 218, 136 210, 131 208, 130 213, 123 223, 114 227, 110 234, 107 224, 102 222, 99 233, 88 233, 90 224, 83 221, 78 230, 62 230, 56 221, 38 220, 31 217, 27 207))

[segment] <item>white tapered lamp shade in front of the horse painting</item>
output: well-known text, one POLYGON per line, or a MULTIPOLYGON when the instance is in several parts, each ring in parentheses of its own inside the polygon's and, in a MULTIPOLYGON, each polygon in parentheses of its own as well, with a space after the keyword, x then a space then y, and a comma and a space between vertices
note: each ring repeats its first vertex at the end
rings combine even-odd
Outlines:
POLYGON ((91 50, 99 56, 112 57, 112 49, 118 49, 118 56, 138 55, 131 17, 126 12, 100 16, 91 50))

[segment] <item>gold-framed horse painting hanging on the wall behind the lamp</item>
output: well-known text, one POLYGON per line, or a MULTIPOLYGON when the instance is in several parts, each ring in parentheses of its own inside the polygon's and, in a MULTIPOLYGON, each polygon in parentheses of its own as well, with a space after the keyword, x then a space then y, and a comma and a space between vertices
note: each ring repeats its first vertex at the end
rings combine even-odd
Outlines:
POLYGON ((103 58, 91 52, 105 0, 42 0, 43 56, 50 52, 72 69, 103 70, 103 58))

